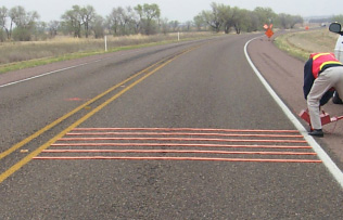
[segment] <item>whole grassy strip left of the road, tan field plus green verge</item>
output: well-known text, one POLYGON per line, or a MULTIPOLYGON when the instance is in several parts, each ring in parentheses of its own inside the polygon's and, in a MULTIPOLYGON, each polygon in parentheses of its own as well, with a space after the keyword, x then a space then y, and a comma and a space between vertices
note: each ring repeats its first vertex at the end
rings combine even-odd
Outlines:
MULTIPOLYGON (((180 41, 214 37, 212 33, 182 33, 180 41)), ((35 42, 0 43, 0 74, 60 61, 122 50, 152 47, 178 41, 177 34, 155 36, 107 37, 107 52, 103 39, 56 38, 35 42)))

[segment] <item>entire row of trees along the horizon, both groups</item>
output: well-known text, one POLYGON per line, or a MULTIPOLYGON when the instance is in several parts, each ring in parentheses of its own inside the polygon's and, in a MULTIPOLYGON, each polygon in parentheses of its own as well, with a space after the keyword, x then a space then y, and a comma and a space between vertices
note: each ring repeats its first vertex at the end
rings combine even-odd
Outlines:
POLYGON ((45 40, 56 35, 77 38, 102 38, 104 35, 155 35, 173 31, 234 31, 251 33, 263 30, 264 24, 287 29, 303 24, 303 17, 277 14, 270 8, 253 11, 212 3, 211 10, 200 12, 193 21, 179 23, 162 18, 157 4, 113 8, 105 17, 99 15, 91 5, 73 5, 61 15, 60 21, 40 22, 37 12, 27 12, 23 7, 0 8, 0 40, 45 40))

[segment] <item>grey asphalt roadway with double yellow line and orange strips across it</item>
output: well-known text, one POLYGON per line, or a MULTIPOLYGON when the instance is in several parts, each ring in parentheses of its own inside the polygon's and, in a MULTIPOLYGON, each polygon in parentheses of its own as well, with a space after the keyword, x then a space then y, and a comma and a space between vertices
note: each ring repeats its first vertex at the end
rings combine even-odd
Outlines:
POLYGON ((341 184, 246 61, 254 37, 0 75, 0 219, 341 219, 341 184))

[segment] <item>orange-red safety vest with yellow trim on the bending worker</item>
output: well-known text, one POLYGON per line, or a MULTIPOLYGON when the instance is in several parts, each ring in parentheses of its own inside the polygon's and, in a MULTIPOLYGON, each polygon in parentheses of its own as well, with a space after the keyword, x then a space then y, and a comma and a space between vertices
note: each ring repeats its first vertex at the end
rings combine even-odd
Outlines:
POLYGON ((327 67, 342 65, 342 63, 334 57, 333 53, 312 53, 309 57, 313 59, 312 73, 315 79, 318 78, 319 74, 327 67))

